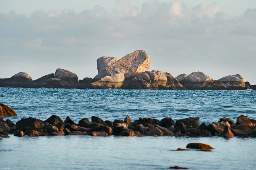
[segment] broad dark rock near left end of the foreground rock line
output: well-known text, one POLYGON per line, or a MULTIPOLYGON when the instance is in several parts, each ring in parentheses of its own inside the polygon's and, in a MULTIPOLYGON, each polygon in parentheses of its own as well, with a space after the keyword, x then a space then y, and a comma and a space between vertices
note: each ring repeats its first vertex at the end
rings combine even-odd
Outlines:
POLYGON ((26 128, 26 127, 30 127, 30 128, 42 128, 44 126, 44 121, 39 120, 39 119, 35 119, 32 117, 29 118, 22 118, 20 119, 17 123, 16 123, 16 128, 18 130, 22 129, 22 128, 26 128))

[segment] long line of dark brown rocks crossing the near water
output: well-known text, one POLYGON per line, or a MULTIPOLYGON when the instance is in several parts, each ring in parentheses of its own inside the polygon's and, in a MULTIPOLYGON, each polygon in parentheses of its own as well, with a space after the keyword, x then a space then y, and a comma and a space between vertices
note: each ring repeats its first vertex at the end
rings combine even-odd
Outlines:
MULTIPOLYGON (((1 112, 1 109, 0 109, 1 112)), ((256 137, 256 120, 241 115, 234 123, 230 118, 221 118, 219 122, 205 123, 199 126, 199 117, 174 120, 163 118, 162 120, 151 118, 139 118, 131 122, 129 116, 124 120, 103 121, 99 117, 92 116, 75 123, 67 116, 63 121, 59 116, 52 115, 45 121, 36 118, 22 118, 16 124, 10 119, 0 121, 1 135, 14 134, 14 136, 30 137, 56 136, 56 135, 91 135, 91 136, 188 136, 223 138, 256 137)))

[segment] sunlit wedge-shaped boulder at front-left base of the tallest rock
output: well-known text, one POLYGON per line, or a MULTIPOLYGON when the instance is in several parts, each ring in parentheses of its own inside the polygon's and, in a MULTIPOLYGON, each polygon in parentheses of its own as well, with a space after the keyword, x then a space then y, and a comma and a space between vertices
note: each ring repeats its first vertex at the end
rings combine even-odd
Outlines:
POLYGON ((105 76, 97 82, 91 83, 92 88, 105 89, 105 88, 120 88, 124 81, 124 74, 113 74, 111 76, 105 76))

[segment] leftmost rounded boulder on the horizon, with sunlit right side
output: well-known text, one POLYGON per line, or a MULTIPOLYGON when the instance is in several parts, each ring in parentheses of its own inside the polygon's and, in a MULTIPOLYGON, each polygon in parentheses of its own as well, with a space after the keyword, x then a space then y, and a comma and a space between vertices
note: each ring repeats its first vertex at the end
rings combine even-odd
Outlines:
POLYGON ((26 72, 19 72, 8 79, 0 79, 0 87, 20 87, 27 82, 32 82, 32 78, 26 72))

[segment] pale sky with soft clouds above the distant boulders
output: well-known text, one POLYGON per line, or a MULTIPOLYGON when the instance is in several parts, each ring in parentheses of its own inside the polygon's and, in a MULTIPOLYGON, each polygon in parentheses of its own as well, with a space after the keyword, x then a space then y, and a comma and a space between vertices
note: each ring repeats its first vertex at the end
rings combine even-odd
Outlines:
POLYGON ((97 75, 97 59, 144 50, 150 70, 256 84, 255 0, 0 0, 0 78, 97 75))

